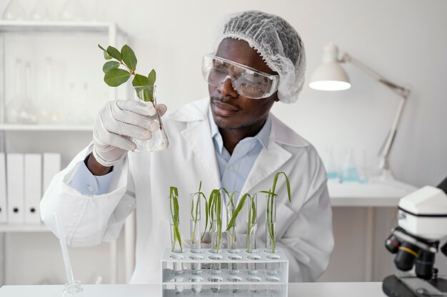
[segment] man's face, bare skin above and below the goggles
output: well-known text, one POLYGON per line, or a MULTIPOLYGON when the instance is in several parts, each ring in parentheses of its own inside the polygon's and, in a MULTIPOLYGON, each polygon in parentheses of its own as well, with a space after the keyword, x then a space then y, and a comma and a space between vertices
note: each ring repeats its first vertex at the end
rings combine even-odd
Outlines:
MULTIPOLYGON (((268 68, 259 53, 248 46, 246 41, 225 38, 219 44, 216 56, 241 63, 258 71, 276 74, 268 68)), ((243 97, 233 89, 229 79, 217 87, 209 85, 209 95, 214 122, 221 129, 238 129, 263 124, 271 106, 278 101, 277 93, 261 99, 243 97)))

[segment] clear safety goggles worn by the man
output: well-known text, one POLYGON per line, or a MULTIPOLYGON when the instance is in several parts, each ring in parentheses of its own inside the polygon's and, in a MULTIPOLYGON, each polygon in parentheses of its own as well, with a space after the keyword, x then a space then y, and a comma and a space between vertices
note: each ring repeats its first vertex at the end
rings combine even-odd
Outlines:
POLYGON ((211 54, 204 56, 202 74, 205 81, 214 87, 229 79, 233 89, 246 98, 268 98, 278 90, 279 75, 257 71, 211 54))

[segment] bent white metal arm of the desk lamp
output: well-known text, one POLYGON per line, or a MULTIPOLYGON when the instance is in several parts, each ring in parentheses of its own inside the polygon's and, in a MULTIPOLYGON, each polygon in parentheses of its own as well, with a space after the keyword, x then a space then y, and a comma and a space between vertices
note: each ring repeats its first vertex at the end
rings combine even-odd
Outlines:
POLYGON ((394 116, 393 125, 391 126, 391 130, 388 134, 388 137, 386 138, 385 145, 383 145, 383 150, 381 155, 381 162, 379 165, 379 169, 382 170, 382 172, 388 172, 388 174, 391 174, 390 172, 390 166, 389 166, 389 156, 391 154, 391 147, 393 147, 393 142, 396 137, 397 128, 401 121, 403 107, 405 106, 406 99, 410 95, 410 90, 408 88, 404 88, 401 85, 397 85, 396 83, 392 83, 390 80, 383 78, 382 75, 376 73, 376 71, 373 71, 368 66, 364 65, 360 61, 358 61, 356 58, 353 58, 348 53, 342 53, 340 60, 338 61, 340 63, 352 63, 357 68, 361 69, 361 71, 365 72, 366 74, 370 75, 372 78, 378 80, 379 83, 382 83, 383 85, 386 85, 387 88, 392 90, 394 93, 397 93, 401 96, 401 101, 398 106, 398 110, 396 112, 396 115, 394 116))

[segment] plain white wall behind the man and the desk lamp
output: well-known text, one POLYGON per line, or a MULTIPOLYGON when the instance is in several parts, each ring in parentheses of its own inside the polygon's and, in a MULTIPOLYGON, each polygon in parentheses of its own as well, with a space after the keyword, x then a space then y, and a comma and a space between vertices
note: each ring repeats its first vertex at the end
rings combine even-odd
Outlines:
MULTIPOLYGON (((7 2, 0 1, 0 11, 7 2)), ((28 11, 35 3, 22 2, 29 5, 28 11)), ((86 5, 89 1, 81 2, 89 7, 86 5)), ((52 8, 56 12, 62 1, 49 3, 54 4, 52 8)), ((117 0, 99 3, 104 8, 102 17, 129 33, 129 44, 139 58, 137 70, 146 73, 156 69, 159 102, 171 109, 207 95, 206 83, 201 78, 201 56, 211 51, 214 28, 228 12, 259 9, 288 20, 306 46, 307 78, 321 61, 321 48, 328 41, 334 41, 341 50, 412 90, 391 155, 396 177, 416 186, 435 185, 446 177, 447 1, 134 0, 127 1, 127 6, 117 0)), ((93 46, 91 51, 98 50, 93 46)), ((276 104, 273 112, 313 142, 318 150, 331 145, 341 160, 346 147, 355 147, 357 152, 364 150, 368 165, 374 166, 378 163, 376 153, 391 126, 398 97, 353 66, 346 66, 346 71, 353 85, 350 90, 323 93, 306 85, 298 103, 276 104)), ((96 83, 95 80, 102 83, 102 78, 91 80, 91 83, 96 83)), ((353 232, 362 236, 363 211, 336 209, 336 225, 353 226, 351 223, 356 222, 353 232)), ((378 222, 381 215, 378 214, 378 222)), ((352 234, 345 227, 338 232, 340 236, 352 234)), ((384 239, 378 236, 378 241, 384 239)), ((363 242, 359 240, 359 244, 363 242)), ((381 246, 378 244, 377 249, 382 249, 381 246)), ((341 267, 343 261, 338 256, 346 258, 349 251, 336 251, 336 255, 331 265, 341 267)), ((378 264, 378 269, 391 269, 386 264, 390 261, 388 258, 378 264)), ((358 271, 362 269, 361 266, 346 269, 343 279, 361 280, 358 271)), ((444 265, 443 270, 446 269, 444 265)), ((324 279, 342 278, 337 272, 331 272, 324 279)))

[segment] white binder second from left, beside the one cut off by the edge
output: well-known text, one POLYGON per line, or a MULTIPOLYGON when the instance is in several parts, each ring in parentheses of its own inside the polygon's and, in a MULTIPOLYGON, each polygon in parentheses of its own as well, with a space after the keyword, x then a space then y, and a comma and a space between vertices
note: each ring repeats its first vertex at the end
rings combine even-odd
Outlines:
POLYGON ((6 154, 8 223, 24 224, 24 155, 6 154))

